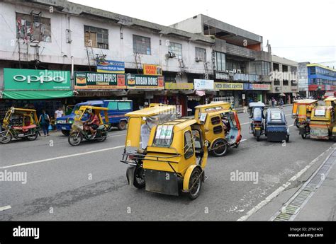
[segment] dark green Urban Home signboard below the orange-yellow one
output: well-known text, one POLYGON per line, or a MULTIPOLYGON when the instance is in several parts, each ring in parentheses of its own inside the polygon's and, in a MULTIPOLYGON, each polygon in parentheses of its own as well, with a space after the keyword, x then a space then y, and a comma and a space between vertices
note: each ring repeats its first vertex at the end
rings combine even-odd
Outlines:
POLYGON ((164 76, 145 76, 142 74, 127 74, 128 89, 164 89, 164 76))

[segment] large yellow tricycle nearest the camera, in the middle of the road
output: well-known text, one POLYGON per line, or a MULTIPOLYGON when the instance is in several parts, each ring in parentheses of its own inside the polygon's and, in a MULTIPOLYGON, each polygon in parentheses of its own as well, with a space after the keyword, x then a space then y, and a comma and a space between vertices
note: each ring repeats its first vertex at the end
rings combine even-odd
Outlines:
POLYGON ((196 199, 205 180, 208 158, 204 135, 201 125, 194 119, 155 125, 150 130, 145 153, 123 154, 123 163, 133 163, 128 168, 128 182, 135 177, 137 164, 134 160, 138 159, 142 161, 147 191, 174 196, 185 192, 190 199, 196 199))

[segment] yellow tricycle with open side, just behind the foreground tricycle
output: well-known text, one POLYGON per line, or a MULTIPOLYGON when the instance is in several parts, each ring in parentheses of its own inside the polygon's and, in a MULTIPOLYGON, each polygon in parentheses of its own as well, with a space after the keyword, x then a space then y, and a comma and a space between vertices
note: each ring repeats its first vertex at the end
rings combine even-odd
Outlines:
POLYGON ((237 148, 242 139, 237 112, 230 103, 209 103, 195 107, 195 120, 205 132, 208 149, 213 156, 225 156, 237 148))

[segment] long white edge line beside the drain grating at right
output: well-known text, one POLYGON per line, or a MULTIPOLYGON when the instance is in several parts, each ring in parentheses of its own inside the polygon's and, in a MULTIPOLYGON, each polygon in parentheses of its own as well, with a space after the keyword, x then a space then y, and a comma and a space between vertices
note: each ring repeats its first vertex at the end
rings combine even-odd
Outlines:
MULTIPOLYGON (((324 151, 323 153, 321 153, 317 158, 315 158, 313 161, 311 161, 308 165, 306 165, 305 168, 303 168, 302 170, 300 170, 296 175, 294 175, 291 179, 289 179, 289 181, 287 181, 286 183, 284 183, 284 185, 281 185, 281 187, 279 187, 278 189, 276 189, 274 192, 272 192, 268 197, 266 197, 266 199, 264 199, 262 202, 259 202, 259 204, 257 204, 257 206, 253 207, 250 211, 247 212, 247 214, 245 214, 244 216, 240 217, 240 219, 237 219, 237 221, 245 221, 247 220, 252 214, 254 214, 255 212, 257 212, 259 209, 261 209, 262 207, 264 207, 266 204, 268 204, 269 202, 271 202, 272 199, 274 199, 275 197, 277 197, 281 192, 283 192, 287 187, 289 187, 289 185, 291 185, 291 182, 294 182, 295 180, 297 180, 303 173, 305 173, 312 165, 314 165, 316 163, 316 161, 318 161, 320 159, 320 157, 322 157, 325 152, 329 151, 330 149, 332 149, 336 144, 334 144, 333 146, 330 146, 329 149, 327 149, 326 151, 324 151)), ((332 150, 331 153, 333 153, 334 150, 332 150)), ((330 155, 331 155, 330 153, 330 155)))

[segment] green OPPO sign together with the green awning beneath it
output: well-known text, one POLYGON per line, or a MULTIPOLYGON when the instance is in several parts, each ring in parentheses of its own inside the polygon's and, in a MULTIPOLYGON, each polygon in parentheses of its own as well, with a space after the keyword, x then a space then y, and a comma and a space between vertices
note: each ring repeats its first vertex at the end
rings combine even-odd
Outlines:
POLYGON ((70 71, 4 69, 4 98, 48 99, 70 96, 70 71))

